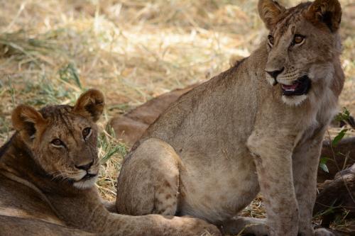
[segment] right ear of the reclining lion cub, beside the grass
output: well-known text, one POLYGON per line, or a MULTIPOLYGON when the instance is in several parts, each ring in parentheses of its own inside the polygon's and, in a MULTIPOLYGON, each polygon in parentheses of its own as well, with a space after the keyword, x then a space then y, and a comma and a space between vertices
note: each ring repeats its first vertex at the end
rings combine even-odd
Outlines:
POLYGON ((97 89, 89 89, 77 99, 73 111, 96 122, 104 111, 104 94, 97 89))

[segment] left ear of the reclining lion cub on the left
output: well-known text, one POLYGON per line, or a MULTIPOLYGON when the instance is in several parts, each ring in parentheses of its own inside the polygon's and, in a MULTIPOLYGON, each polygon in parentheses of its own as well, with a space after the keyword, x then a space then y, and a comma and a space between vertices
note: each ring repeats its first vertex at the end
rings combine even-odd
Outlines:
POLYGON ((35 108, 26 105, 17 106, 11 120, 13 128, 21 132, 25 140, 31 140, 38 128, 46 124, 45 118, 35 108))

